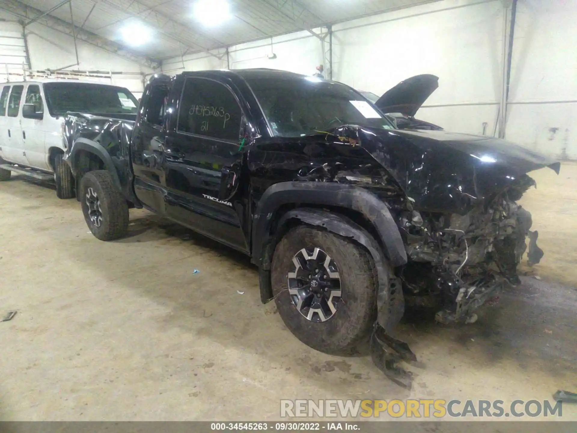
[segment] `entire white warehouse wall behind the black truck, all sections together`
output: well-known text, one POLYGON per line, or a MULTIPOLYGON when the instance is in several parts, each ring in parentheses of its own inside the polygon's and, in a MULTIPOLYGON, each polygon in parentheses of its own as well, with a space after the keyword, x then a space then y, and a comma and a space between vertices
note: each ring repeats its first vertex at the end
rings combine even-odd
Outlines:
MULTIPOLYGON (((335 24, 333 77, 380 95, 408 77, 435 74, 439 88, 417 117, 447 130, 493 135, 503 77, 504 4, 443 0, 335 24)), ((518 1, 506 131, 510 141, 570 159, 577 159, 575 23, 574 0, 518 1)), ((312 74, 323 62, 320 41, 307 32, 273 38, 272 52, 276 59, 267 58, 270 39, 230 47, 231 69, 312 74)), ((181 59, 164 62, 163 70, 170 68, 182 70, 181 59)), ((189 56, 184 68, 226 68, 226 58, 189 56)))

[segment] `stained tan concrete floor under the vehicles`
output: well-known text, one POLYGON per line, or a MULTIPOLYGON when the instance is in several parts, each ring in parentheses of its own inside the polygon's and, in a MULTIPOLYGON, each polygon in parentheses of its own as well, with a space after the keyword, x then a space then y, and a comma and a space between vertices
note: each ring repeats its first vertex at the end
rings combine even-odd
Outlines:
POLYGON ((402 324, 421 361, 411 392, 366 354, 301 344, 260 303, 248 258, 140 210, 130 237, 98 241, 77 201, 14 176, 0 183, 0 313, 18 310, 0 323, 0 419, 275 420, 282 398, 577 391, 577 165, 533 175, 522 204, 544 259, 475 324, 402 324))

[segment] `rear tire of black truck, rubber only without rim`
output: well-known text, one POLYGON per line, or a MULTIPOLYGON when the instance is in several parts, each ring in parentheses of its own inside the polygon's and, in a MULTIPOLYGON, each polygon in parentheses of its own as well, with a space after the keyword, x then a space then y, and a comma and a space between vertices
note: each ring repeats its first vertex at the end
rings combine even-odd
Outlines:
POLYGON ((89 171, 80 181, 80 203, 88 228, 101 241, 111 241, 123 237, 128 231, 128 204, 114 186, 107 170, 89 171), (96 226, 89 215, 87 195, 89 188, 98 196, 102 209, 102 222, 96 226))

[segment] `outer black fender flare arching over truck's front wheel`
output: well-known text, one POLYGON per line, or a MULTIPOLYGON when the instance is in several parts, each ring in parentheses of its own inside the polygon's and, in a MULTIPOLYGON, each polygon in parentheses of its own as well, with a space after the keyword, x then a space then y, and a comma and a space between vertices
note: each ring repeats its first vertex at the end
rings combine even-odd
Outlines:
POLYGON ((387 205, 376 195, 354 185, 333 182, 279 182, 269 186, 258 200, 252 224, 252 262, 268 270, 271 262, 271 224, 283 204, 338 206, 360 212, 379 234, 383 251, 393 267, 407 263, 407 253, 387 205))

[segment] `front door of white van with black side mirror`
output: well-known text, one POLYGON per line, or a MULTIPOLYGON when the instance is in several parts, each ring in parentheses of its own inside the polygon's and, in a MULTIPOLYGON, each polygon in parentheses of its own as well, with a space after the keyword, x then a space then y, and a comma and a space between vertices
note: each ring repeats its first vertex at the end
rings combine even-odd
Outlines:
MULTIPOLYGON (((35 111, 34 114, 27 115, 23 109, 21 115, 23 148, 26 152, 28 165, 37 169, 51 171, 50 166, 48 166, 46 148, 44 147, 47 122, 44 118, 44 103, 38 84, 28 84, 24 104, 33 105, 35 111)), ((49 116, 48 121, 50 121, 49 116)), ((54 124, 56 125, 56 122, 54 124)), ((59 130, 51 132, 60 133, 59 130)))

